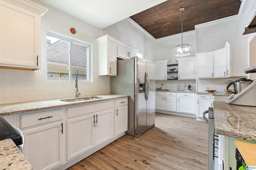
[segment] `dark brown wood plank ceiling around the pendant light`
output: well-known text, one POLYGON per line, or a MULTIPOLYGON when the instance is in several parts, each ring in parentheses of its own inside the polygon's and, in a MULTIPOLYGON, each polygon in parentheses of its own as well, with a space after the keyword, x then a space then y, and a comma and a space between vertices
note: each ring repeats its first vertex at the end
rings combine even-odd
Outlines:
POLYGON ((131 16, 155 39, 194 30, 194 25, 238 14, 240 0, 167 0, 152 8, 131 16))

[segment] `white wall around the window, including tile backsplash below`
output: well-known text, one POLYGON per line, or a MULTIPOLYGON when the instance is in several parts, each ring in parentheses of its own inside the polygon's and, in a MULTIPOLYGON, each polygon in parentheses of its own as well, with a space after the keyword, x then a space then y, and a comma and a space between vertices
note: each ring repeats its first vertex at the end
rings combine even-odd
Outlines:
POLYGON ((42 16, 42 64, 40 70, 12 70, 0 69, 0 103, 24 102, 53 98, 69 98, 75 96, 74 82, 46 81, 46 30, 60 33, 68 37, 79 39, 93 46, 93 82, 79 82, 81 96, 109 94, 110 82, 106 76, 98 74, 98 38, 99 29, 73 18, 59 10, 32 0, 48 8, 42 16), (76 34, 70 33, 70 28, 76 29, 76 34))

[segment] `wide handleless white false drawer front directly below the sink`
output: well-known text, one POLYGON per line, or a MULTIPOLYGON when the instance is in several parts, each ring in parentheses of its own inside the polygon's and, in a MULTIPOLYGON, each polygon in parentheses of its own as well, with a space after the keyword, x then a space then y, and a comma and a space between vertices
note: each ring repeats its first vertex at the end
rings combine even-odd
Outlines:
POLYGON ((110 100, 107 102, 94 103, 94 104, 86 104, 82 106, 68 107, 67 115, 69 118, 69 117, 84 115, 87 113, 92 113, 92 112, 101 111, 105 109, 111 109, 111 108, 113 108, 113 100, 110 100))

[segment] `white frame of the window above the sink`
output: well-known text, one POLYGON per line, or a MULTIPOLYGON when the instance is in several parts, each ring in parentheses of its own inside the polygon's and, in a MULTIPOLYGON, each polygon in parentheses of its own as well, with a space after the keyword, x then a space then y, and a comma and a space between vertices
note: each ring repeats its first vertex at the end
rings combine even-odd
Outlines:
MULTIPOLYGON (((69 42, 69 63, 68 63, 68 66, 66 64, 49 62, 49 61, 47 61, 47 55, 46 55, 46 62, 47 62, 46 74, 48 73, 48 68, 51 68, 52 72, 62 72, 62 73, 66 73, 68 68, 70 69, 70 67, 72 66, 72 63, 71 63, 71 57, 72 56, 71 56, 70 44, 71 44, 71 42, 74 42, 74 43, 79 43, 81 45, 87 46, 87 61, 86 61, 87 67, 85 69, 85 68, 80 67, 80 66, 73 66, 73 68, 72 68, 73 72, 72 73, 76 74, 76 70, 78 70, 78 74, 82 74, 83 72, 85 72, 86 73, 86 80, 79 80, 79 77, 78 77, 78 80, 80 82, 92 82, 92 44, 86 43, 84 41, 80 41, 78 39, 74 39, 74 38, 71 38, 71 37, 67 37, 65 35, 52 33, 50 31, 46 32, 46 36, 56 37, 58 39, 62 39, 62 40, 65 40, 65 41, 69 42)), ((46 49, 47 49, 47 47, 46 47, 46 49)), ((46 54, 47 54, 47 52, 46 52, 46 54)), ((71 75, 71 70, 69 70, 68 74, 71 75)), ((59 81, 57 79, 48 79, 47 77, 46 77, 46 79, 47 79, 47 81, 59 81)), ((65 81, 68 81, 68 80, 67 79, 62 79, 62 81, 65 82, 65 81)), ((72 80, 70 78, 69 81, 71 82, 71 81, 75 81, 75 80, 72 80)))

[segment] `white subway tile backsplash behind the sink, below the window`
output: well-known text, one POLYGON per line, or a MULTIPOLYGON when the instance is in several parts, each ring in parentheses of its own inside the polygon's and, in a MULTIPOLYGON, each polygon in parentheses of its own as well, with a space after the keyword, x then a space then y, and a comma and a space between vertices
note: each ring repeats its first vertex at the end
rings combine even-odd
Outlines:
MULTIPOLYGON (((94 82, 79 82, 81 96, 108 94, 110 78, 93 75, 94 82)), ((0 104, 55 98, 74 98, 75 82, 47 81, 46 71, 0 69, 0 104)))

